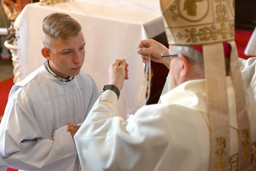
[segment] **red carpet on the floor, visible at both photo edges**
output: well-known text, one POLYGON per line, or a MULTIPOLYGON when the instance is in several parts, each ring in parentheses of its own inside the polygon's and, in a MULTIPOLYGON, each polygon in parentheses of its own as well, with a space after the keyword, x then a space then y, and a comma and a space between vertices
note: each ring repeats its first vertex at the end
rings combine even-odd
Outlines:
MULTIPOLYGON (((236 30, 236 36, 235 41, 237 44, 238 49, 238 55, 240 58, 248 59, 251 56, 244 55, 244 49, 253 33, 253 30, 236 30)), ((1 116, 4 113, 4 109, 6 106, 6 103, 8 101, 8 95, 9 91, 11 90, 13 86, 13 77, 10 79, 4 80, 0 82, 0 122, 1 122, 1 116)), ((17 171, 16 169, 8 168, 7 171, 17 171)))

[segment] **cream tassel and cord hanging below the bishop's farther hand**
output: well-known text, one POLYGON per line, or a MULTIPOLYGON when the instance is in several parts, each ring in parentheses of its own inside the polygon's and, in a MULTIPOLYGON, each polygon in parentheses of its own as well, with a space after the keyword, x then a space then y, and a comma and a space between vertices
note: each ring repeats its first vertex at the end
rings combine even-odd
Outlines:
POLYGON ((136 96, 135 102, 136 103, 140 103, 140 104, 145 104, 145 100, 147 102, 147 100, 149 99, 150 96, 150 82, 151 82, 151 59, 147 59, 147 63, 146 63, 146 72, 144 75, 144 81, 140 87, 140 90, 136 96), (147 73, 148 71, 150 71, 150 78, 149 81, 147 82, 147 73), (147 94, 147 98, 146 98, 146 91, 147 91, 147 87, 149 88, 148 90, 148 94, 147 94))

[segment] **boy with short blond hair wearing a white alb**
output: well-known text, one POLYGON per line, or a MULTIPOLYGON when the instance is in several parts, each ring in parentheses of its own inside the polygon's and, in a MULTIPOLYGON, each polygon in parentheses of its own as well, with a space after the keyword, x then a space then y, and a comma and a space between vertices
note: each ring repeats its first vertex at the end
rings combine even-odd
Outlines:
POLYGON ((0 150, 20 170, 79 169, 74 134, 100 95, 81 70, 85 40, 81 25, 67 14, 43 20, 41 52, 46 61, 14 85, 0 124, 0 150))

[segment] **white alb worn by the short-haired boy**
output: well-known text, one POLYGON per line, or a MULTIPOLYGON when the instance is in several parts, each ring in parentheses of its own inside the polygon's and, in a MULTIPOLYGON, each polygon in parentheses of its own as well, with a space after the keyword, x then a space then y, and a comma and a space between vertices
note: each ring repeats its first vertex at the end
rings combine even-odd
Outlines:
POLYGON ((44 66, 32 72, 10 91, 0 124, 3 160, 20 170, 78 170, 67 124, 82 123, 100 94, 83 71, 70 82, 59 81, 44 66))

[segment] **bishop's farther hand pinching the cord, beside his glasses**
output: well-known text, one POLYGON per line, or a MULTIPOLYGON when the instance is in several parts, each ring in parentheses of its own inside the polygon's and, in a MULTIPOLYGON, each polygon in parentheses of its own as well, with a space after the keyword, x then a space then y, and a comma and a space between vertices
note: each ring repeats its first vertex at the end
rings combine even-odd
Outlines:
POLYGON ((146 63, 147 59, 149 59, 148 54, 151 55, 151 60, 158 63, 163 63, 161 54, 168 55, 168 48, 153 39, 141 40, 137 45, 137 48, 143 48, 138 51, 138 54, 141 55, 142 62, 144 63, 146 63))

